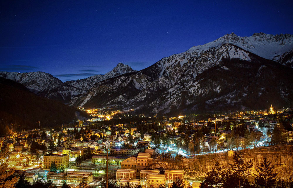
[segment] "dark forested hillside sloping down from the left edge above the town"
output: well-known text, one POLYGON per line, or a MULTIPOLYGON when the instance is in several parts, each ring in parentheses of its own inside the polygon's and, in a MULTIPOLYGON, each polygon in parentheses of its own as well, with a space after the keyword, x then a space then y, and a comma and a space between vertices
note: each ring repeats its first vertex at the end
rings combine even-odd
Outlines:
MULTIPOLYGON (((70 123, 75 119, 75 112, 80 111, 61 102, 39 97, 21 84, 7 83, 0 78, 0 135, 9 129, 24 130, 40 127, 54 127, 70 123), (7 129, 8 128, 8 129, 7 129)), ((13 81, 12 81, 13 82, 13 81)), ((87 116, 80 111, 81 116, 87 116)))

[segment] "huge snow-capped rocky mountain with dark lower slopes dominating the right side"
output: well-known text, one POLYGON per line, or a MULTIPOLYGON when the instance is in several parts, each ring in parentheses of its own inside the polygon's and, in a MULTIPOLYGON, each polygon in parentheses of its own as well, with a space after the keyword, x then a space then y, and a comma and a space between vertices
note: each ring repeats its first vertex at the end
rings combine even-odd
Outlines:
POLYGON ((97 82, 70 104, 125 105, 154 113, 234 104, 253 108, 248 100, 258 102, 257 98, 262 98, 267 100, 262 101, 262 105, 267 105, 273 103, 268 101, 270 95, 280 104, 289 104, 293 101, 292 87, 289 87, 293 85, 289 77, 293 70, 290 68, 292 49, 293 35, 290 34, 255 33, 249 37, 226 34, 213 42, 163 58, 141 71, 97 82), (278 72, 278 76, 274 72, 278 72), (252 97, 252 93, 255 96, 252 97))

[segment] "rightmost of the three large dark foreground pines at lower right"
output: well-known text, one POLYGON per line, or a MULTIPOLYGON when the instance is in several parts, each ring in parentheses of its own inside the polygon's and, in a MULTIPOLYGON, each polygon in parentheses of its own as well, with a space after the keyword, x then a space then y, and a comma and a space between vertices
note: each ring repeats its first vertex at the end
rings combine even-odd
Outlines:
POLYGON ((274 187, 277 176, 277 173, 273 172, 274 166, 267 157, 264 157, 260 166, 255 166, 255 170, 258 173, 254 174, 256 176, 254 180, 255 184, 259 187, 274 187))

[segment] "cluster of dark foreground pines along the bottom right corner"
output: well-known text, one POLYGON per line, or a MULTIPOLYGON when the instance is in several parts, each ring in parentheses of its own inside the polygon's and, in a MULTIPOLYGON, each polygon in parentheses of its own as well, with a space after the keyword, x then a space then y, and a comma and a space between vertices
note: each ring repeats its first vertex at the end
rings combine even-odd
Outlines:
POLYGON ((277 179, 274 165, 266 157, 255 166, 257 173, 254 173, 254 181, 248 181, 248 177, 252 176, 252 160, 245 161, 242 152, 235 152, 233 161, 234 163, 229 164, 228 168, 216 161, 211 170, 206 173, 200 188, 293 188, 291 176, 287 178, 288 180, 277 179))

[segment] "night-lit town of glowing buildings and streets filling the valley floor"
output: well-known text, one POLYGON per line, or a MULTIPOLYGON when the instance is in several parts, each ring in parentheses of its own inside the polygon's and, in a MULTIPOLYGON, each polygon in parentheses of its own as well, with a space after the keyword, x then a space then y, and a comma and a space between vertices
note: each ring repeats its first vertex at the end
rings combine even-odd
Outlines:
POLYGON ((108 158, 109 181, 120 186, 172 187, 180 179, 200 187, 205 172, 194 172, 187 163, 293 146, 292 108, 178 117, 135 115, 133 109, 83 110, 89 118, 72 124, 1 135, 8 167, 30 183, 42 179, 58 187, 95 188, 103 187, 108 158), (187 167, 180 166, 183 161, 187 167))

